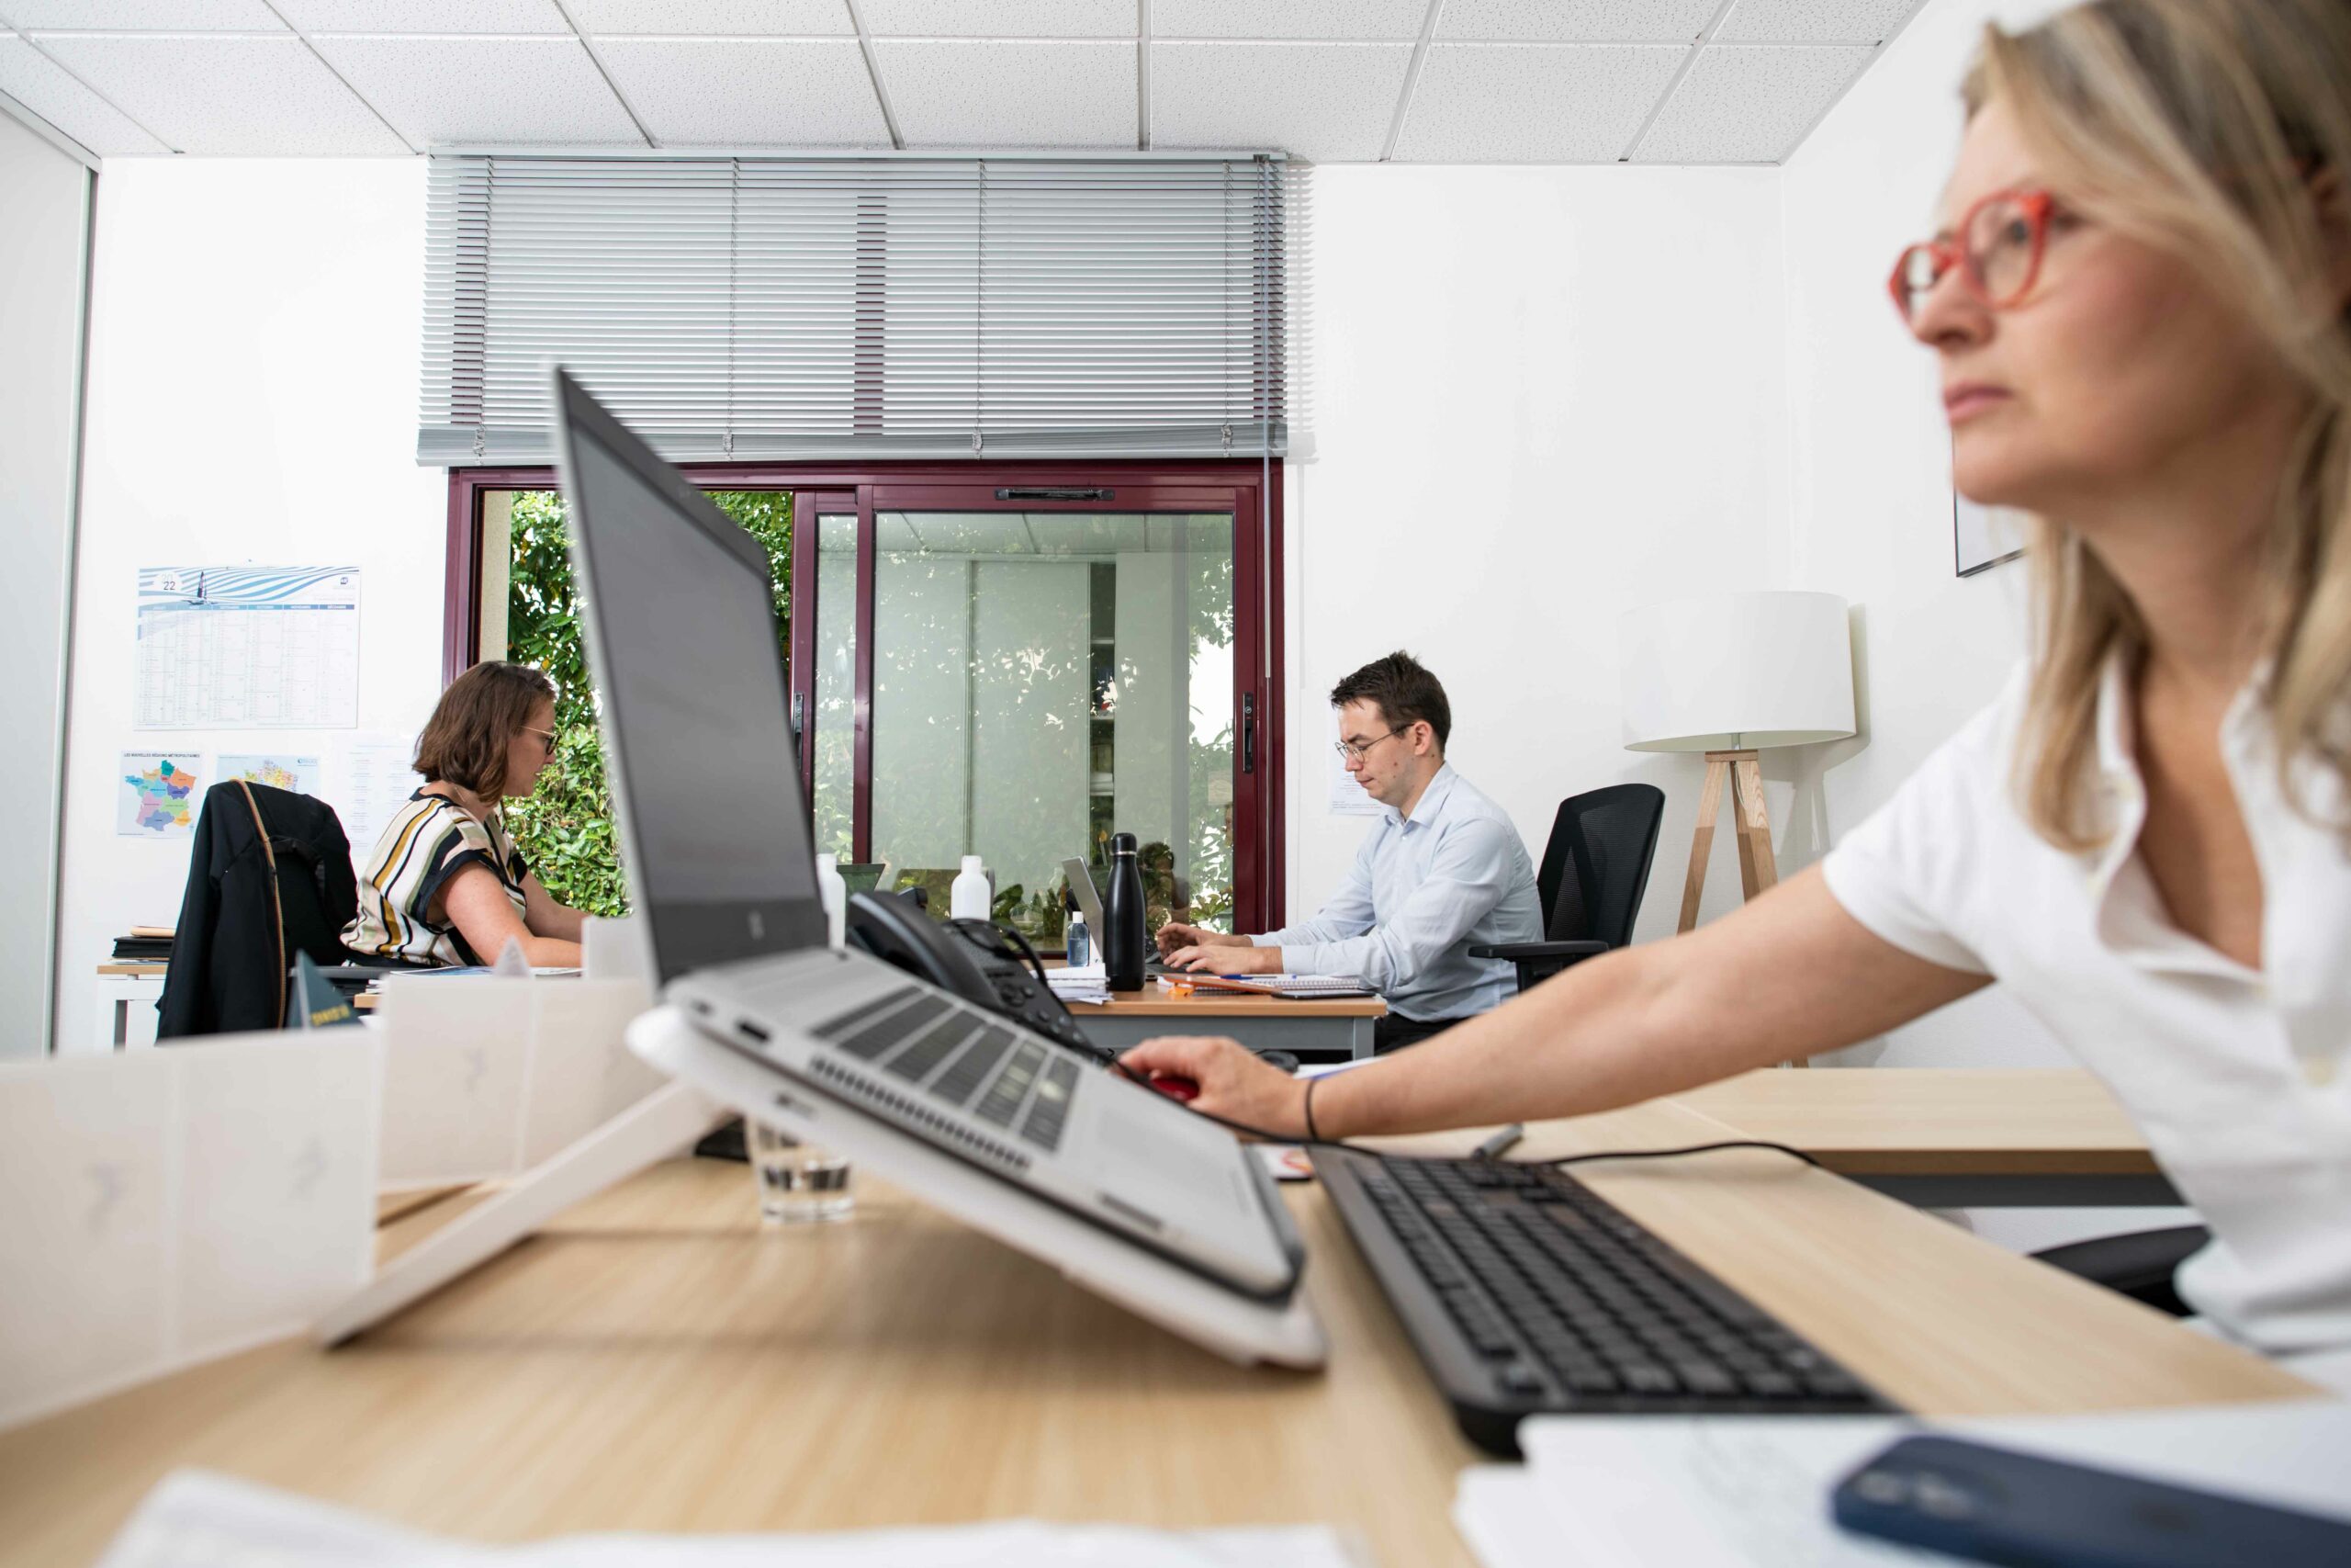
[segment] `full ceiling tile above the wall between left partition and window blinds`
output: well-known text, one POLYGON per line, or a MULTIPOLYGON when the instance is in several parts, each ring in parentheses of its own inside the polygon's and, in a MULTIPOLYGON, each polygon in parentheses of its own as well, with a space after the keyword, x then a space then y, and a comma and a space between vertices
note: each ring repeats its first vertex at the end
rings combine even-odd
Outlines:
POLYGON ((49 33, 40 45, 181 153, 353 158, 411 150, 292 33, 49 33))

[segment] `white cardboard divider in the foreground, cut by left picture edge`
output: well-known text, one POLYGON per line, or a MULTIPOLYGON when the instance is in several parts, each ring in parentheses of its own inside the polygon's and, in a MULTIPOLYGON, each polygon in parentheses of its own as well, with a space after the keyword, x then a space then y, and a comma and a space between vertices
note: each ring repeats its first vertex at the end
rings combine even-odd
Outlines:
POLYGON ((348 1298, 379 1126, 367 1030, 0 1065, 0 1427, 348 1298))

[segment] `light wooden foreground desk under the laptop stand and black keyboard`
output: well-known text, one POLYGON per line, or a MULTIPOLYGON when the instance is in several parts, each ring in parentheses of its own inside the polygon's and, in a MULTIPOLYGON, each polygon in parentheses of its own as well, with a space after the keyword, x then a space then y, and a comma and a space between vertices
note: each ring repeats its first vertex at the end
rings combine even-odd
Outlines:
MULTIPOLYGON (((1528 1154, 1712 1131, 1648 1105, 1545 1124, 1528 1154)), ((1784 1157, 1582 1173, 1925 1413, 2311 1392, 1784 1157)), ((741 1166, 672 1161, 346 1349, 273 1345, 0 1434, 0 1542, 12 1563, 87 1563, 167 1469, 205 1465, 482 1540, 1331 1521, 1382 1568, 1467 1568, 1448 1509, 1479 1455, 1321 1190, 1286 1197, 1331 1335, 1321 1375, 1227 1366, 870 1178, 853 1222, 762 1234, 741 1166)))

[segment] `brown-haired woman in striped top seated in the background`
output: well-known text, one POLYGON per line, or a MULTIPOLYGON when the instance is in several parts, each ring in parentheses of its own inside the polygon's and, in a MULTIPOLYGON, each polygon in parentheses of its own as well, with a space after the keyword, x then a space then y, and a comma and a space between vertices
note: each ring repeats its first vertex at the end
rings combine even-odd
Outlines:
POLYGON ((531 966, 581 961, 581 912, 548 896, 505 832, 498 804, 529 795, 555 757, 555 684, 538 670, 480 663, 442 691, 416 741, 426 783, 393 813, 360 867, 355 954, 411 964, 496 964, 522 943, 531 966))

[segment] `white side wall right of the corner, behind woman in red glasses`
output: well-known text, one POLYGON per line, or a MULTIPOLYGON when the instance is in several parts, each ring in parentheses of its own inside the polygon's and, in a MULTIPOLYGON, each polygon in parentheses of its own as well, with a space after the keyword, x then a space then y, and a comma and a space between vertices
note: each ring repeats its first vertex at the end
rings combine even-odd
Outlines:
MULTIPOLYGON (((1886 49, 1780 174, 1791 435, 1787 588, 1843 595, 1857 614, 1862 733, 1808 748, 1817 813, 1782 835, 1782 870, 1883 804, 2024 654, 2024 567, 1951 567, 1951 440, 1935 355, 1886 299, 1895 254, 1935 230, 1963 132, 1958 82, 1987 16, 2048 0, 1935 0, 1886 49)), ((1808 797, 1810 799, 1810 797, 1808 797)), ((1860 1046, 1853 1060, 1940 1067, 2071 1058, 1996 987, 1860 1046)))

